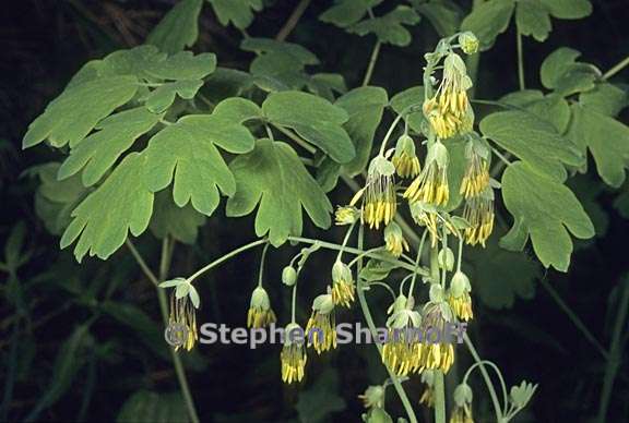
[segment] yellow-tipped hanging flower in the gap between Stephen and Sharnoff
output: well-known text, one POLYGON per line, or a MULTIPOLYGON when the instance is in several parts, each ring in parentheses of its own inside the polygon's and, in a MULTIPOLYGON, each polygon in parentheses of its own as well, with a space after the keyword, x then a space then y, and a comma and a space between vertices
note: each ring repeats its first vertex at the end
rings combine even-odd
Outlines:
POLYGON ((319 295, 312 302, 312 314, 306 325, 308 346, 314 347, 317 353, 336 348, 336 323, 332 294, 319 295))

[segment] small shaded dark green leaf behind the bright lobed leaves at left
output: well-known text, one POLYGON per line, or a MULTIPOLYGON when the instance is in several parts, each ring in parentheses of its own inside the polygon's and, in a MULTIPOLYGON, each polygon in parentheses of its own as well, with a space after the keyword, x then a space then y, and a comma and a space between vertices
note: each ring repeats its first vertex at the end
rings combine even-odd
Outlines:
POLYGON ((185 244, 193 244, 197 241, 199 227, 205 223, 205 216, 194 210, 190 204, 178 207, 173 202, 171 195, 170 190, 155 195, 150 229, 159 239, 171 237, 185 244))

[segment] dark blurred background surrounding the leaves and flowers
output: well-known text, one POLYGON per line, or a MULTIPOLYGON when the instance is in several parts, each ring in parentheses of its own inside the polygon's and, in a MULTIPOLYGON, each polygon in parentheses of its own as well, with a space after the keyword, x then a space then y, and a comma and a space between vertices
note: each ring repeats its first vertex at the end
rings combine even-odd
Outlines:
MULTIPOLYGON (((97 307, 90 302, 85 291, 96 291, 98 298, 107 291, 116 301, 134 304, 158 322, 154 291, 143 280, 127 251, 116 253, 107 263, 90 259, 82 267, 73 262, 70 252, 58 251, 58 238, 48 234, 34 213, 37 181, 23 174, 31 166, 58 156, 45 147, 23 153, 21 138, 27 124, 63 89, 85 61, 142 44, 171 3, 157 0, 4 0, 0 4, 0 238, 5 239, 19 221, 27 228, 25 247, 32 250, 33 255, 19 274, 24 287, 28 287, 22 291, 22 300, 27 304, 28 322, 40 323, 27 326, 24 333, 15 335, 20 341, 12 342, 11 322, 16 311, 13 301, 0 303, 0 382, 8 377, 11 368, 26 372, 19 378, 2 419, 24 419, 50 388, 55 378, 54 361, 62 342, 75 325, 86 321, 97 307), (109 291, 103 288, 110 285, 114 288, 109 291), (15 343, 17 353, 12 355, 15 343)), ((274 36, 296 3, 288 0, 272 2, 257 15, 248 33, 274 36)), ((387 9, 385 3, 383 9, 387 9)), ((553 20, 553 33, 546 43, 524 40, 527 86, 541 87, 539 64, 560 46, 582 51, 582 60, 603 71, 627 56, 629 2, 593 0, 593 3, 594 13, 585 20, 553 20)), ((321 70, 342 73, 348 86, 356 86, 365 72, 373 40, 347 35, 318 21, 317 16, 328 7, 328 1, 313 1, 288 40, 312 50, 321 59, 321 70)), ((221 65, 247 70, 252 56, 238 49, 241 35, 232 27, 222 27, 207 5, 200 29, 200 43, 194 50, 214 51, 221 65)), ((407 48, 383 47, 373 85, 385 87, 392 95, 420 83, 423 53, 436 44, 438 35, 424 20, 413 28, 413 36, 414 41, 407 48)), ((496 99, 518 89, 514 39, 511 25, 499 36, 496 46, 482 55, 478 98, 496 99)), ((627 81, 628 72, 620 73, 615 81, 627 81)), ((594 181, 607 228, 594 241, 578 244, 569 274, 546 271, 542 277, 557 289, 601 343, 608 347, 614 316, 609 311, 616 310, 615 287, 629 270, 629 222, 612 206, 616 193, 602 189, 600 180, 592 176, 579 178, 594 181)), ((348 195, 344 188, 336 189, 333 204, 343 203, 348 195)), ((221 216, 209 219, 195 246, 177 247, 171 273, 187 275, 212 257, 250 241, 251 228, 250 219, 226 220, 221 216)), ((325 237, 340 241, 342 232, 331 230, 325 237)), ((159 243, 150 234, 138 243, 145 256, 152 257, 150 264, 155 267, 159 243)), ((270 291, 281 318, 286 318, 289 302, 287 292, 280 287, 280 273, 297 251, 285 247, 270 254, 266 280, 271 286, 275 283, 270 291)), ((532 252, 526 253, 533 257, 532 252)), ((321 285, 321 279, 329 278, 332 258, 320 253, 308 265, 299 300, 301 321, 307 318, 309 299, 317 293, 312 285, 321 285)), ((245 322, 258 261, 259 251, 248 253, 203 278, 201 322, 224 322, 233 326, 245 322)), ((2 293, 8 294, 8 290, 2 293)), ((337 318, 357 321, 359 315, 344 312, 337 318)), ((585 422, 595 415, 605 362, 546 290, 537 287, 533 299, 518 299, 509 310, 496 311, 478 305, 472 330, 482 355, 502 368, 508 383, 525 378, 539 384, 524 420, 585 422)), ((311 401, 316 403, 318 398, 324 401, 322 395, 339 395, 347 407, 330 418, 331 421, 355 422, 361 412, 356 396, 369 384, 381 383, 384 378, 372 347, 343 347, 321 358, 310 354, 308 377, 301 387, 282 385, 277 347, 265 346, 250 351, 238 346, 201 346, 198 351, 194 359, 189 360, 197 371, 188 373, 203 421, 289 421, 295 418, 294 406, 300 398, 299 391, 312 388, 318 377, 332 368, 325 378, 328 382, 334 379, 336 384, 327 385, 311 401)), ((466 354, 460 356, 461 363, 468 361, 466 354)), ((82 365, 75 377, 39 419, 112 421, 131 392, 140 388, 155 391, 177 388, 168 361, 156 358, 137 331, 111 317, 99 318, 91 328, 90 345, 76 363, 82 365)), ((463 373, 466 367, 460 368, 463 373)), ((417 379, 407 383, 414 401, 422 391, 417 379)), ((480 379, 474 382, 478 421, 489 421, 488 396, 477 382, 480 379)), ((0 391, 5 398, 4 388, 0 391)), ((392 390, 388 398, 391 414, 402 415, 392 390)), ((618 372, 609 422, 629 421, 628 399, 629 367, 625 361, 618 372)))

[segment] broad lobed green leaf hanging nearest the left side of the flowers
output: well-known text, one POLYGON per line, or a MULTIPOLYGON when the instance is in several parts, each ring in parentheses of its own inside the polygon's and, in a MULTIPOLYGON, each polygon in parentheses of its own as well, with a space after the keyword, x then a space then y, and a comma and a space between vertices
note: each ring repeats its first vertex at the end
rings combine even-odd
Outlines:
POLYGON ((285 143, 259 140, 253 152, 235 158, 236 195, 227 201, 227 216, 249 215, 259 204, 256 234, 269 233, 275 246, 301 234, 301 207, 319 228, 330 226, 330 201, 285 143))

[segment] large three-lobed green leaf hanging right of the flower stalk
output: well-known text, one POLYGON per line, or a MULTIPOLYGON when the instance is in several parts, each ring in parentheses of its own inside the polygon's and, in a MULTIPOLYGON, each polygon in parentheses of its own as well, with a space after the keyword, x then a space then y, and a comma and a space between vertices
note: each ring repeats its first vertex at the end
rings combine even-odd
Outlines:
POLYGON ((572 254, 568 230, 579 239, 594 237, 594 226, 574 194, 556 180, 544 177, 519 161, 502 174, 505 206, 514 222, 501 245, 523 246, 530 237, 545 267, 567 271, 572 254))

